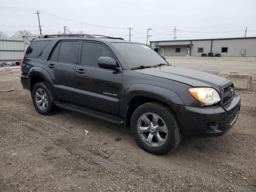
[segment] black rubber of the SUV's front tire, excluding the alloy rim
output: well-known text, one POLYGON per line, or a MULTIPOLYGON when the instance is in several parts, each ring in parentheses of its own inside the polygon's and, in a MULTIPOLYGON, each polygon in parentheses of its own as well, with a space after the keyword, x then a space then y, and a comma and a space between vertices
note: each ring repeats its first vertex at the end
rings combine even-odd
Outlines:
POLYGON ((177 126, 175 119, 173 120, 173 118, 174 117, 172 116, 172 114, 170 114, 170 111, 163 110, 161 107, 156 107, 154 105, 153 106, 152 105, 142 105, 142 106, 138 107, 132 114, 132 119, 131 119, 132 136, 134 137, 134 140, 137 142, 137 144, 143 150, 150 152, 152 154, 156 154, 156 155, 166 154, 166 153, 170 152, 171 150, 174 150, 174 148, 176 148, 177 142, 179 140, 179 136, 177 135, 177 134, 179 134, 179 132, 177 132, 178 126, 177 126), (160 147, 148 146, 147 144, 145 144, 143 142, 143 140, 140 138, 140 135, 138 134, 137 122, 138 122, 138 119, 140 118, 140 116, 145 113, 157 114, 164 120, 164 122, 167 126, 168 137, 167 137, 166 142, 160 147))

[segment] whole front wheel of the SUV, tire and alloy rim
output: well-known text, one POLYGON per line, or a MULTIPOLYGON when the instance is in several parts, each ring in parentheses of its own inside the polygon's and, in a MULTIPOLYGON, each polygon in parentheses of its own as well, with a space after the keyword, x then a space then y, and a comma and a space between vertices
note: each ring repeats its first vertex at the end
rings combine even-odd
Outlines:
POLYGON ((148 102, 136 108, 131 118, 131 132, 143 150, 156 155, 174 150, 181 141, 180 129, 173 112, 160 102, 148 102))

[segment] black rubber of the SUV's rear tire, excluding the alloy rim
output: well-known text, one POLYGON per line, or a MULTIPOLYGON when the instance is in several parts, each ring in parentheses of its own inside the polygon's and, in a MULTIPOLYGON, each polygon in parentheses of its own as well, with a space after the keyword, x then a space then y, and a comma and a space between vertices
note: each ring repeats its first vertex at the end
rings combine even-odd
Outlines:
POLYGON ((43 115, 47 115, 50 112, 52 112, 52 108, 54 107, 54 104, 53 104, 53 101, 52 101, 51 93, 50 93, 50 90, 46 87, 46 85, 44 83, 40 82, 40 83, 35 84, 35 86, 33 87, 31 96, 32 96, 34 107, 36 108, 38 113, 43 114, 43 115), (36 94, 36 90, 38 88, 42 88, 46 92, 47 100, 48 100, 48 106, 47 106, 46 110, 41 110, 36 104, 35 94, 36 94))

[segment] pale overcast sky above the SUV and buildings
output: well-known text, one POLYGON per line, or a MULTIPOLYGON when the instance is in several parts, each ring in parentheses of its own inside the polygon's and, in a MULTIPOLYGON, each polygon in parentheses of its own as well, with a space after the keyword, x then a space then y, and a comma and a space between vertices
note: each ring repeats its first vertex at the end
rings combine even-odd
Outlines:
POLYGON ((68 30, 146 42, 177 39, 256 36, 256 0, 1 0, 0 31, 38 34, 40 10, 43 34, 68 30), (53 14, 53 15, 51 15, 53 14), (54 16, 55 15, 55 16, 54 16), (58 18, 56 16, 62 17, 58 18), (66 19, 78 21, 70 21, 66 19), (87 23, 87 24, 85 24, 87 23), (88 25, 92 24, 92 25, 88 25), (98 25, 98 26, 93 26, 98 25), (105 26, 105 27, 100 27, 105 26), (110 28, 107 28, 110 27, 110 28))

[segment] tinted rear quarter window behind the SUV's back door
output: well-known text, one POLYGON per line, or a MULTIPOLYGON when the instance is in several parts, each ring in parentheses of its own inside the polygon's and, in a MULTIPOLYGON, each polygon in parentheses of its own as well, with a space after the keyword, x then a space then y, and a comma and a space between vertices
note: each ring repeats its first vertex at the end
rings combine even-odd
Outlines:
POLYGON ((50 44, 52 41, 34 41, 30 44, 28 47, 25 57, 28 58, 39 58, 43 52, 44 49, 50 44))

